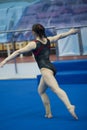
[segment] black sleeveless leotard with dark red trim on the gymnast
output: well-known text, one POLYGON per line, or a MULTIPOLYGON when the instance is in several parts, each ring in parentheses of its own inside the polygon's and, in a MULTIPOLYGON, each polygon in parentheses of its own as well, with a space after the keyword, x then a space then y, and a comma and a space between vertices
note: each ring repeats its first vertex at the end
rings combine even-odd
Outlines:
POLYGON ((50 55, 50 41, 47 39, 47 43, 43 44, 40 41, 36 40, 36 48, 33 50, 35 60, 39 68, 48 68, 56 73, 56 69, 49 60, 50 55))

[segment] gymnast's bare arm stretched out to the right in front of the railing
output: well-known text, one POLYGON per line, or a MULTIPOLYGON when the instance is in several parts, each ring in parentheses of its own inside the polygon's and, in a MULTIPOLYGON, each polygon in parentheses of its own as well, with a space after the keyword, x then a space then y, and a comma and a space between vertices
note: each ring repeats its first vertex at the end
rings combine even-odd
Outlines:
POLYGON ((78 32, 79 32, 79 29, 72 28, 68 32, 61 33, 61 34, 58 34, 58 35, 53 36, 53 37, 48 37, 48 39, 50 40, 50 42, 56 42, 59 39, 65 38, 65 37, 72 35, 72 34, 76 34, 78 32))

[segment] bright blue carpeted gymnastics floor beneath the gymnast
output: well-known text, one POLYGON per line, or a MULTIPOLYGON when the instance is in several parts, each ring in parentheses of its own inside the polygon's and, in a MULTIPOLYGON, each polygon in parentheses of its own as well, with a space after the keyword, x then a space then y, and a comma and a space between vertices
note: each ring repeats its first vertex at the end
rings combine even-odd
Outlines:
POLYGON ((0 130, 87 130, 87 84, 61 84, 76 105, 78 121, 49 89, 54 118, 44 118, 37 84, 36 79, 0 81, 0 130))

